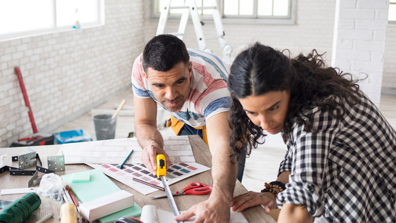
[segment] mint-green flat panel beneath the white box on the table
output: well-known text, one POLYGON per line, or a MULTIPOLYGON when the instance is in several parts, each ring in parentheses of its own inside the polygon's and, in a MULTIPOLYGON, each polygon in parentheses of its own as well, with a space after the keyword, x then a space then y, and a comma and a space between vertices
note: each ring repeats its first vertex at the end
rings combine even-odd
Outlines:
MULTIPOLYGON (((90 181, 87 182, 73 182, 73 174, 63 175, 62 178, 68 183, 71 191, 81 202, 92 201, 96 198, 100 198, 117 191, 121 191, 106 175, 100 170, 88 170, 81 173, 88 173, 90 175, 90 181)), ((101 217, 98 220, 101 223, 112 223, 118 217, 122 216, 139 216, 142 213, 142 208, 136 204, 126 208, 124 210, 109 214, 101 217)))

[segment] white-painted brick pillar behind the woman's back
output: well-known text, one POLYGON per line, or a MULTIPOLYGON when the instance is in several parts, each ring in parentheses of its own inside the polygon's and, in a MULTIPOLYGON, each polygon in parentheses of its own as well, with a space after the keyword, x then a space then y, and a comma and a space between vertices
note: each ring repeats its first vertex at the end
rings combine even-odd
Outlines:
POLYGON ((388 7, 388 0, 337 0, 336 3, 332 66, 357 78, 367 74, 360 87, 377 106, 388 7))

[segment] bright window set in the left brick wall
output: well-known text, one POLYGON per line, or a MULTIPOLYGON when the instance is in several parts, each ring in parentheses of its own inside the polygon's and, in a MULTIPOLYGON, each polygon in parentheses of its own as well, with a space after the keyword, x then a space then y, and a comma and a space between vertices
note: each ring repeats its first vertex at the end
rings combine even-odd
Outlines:
POLYGON ((0 40, 104 24, 103 0, 2 0, 0 40), (76 22, 78 21, 78 22, 76 22))

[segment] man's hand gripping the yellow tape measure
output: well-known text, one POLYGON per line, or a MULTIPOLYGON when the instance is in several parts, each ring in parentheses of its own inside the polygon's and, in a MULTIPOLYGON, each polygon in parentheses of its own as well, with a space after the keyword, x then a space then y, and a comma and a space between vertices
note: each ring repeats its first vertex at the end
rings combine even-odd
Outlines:
POLYGON ((143 148, 142 155, 140 156, 140 161, 147 167, 147 169, 152 173, 152 175, 156 175, 157 169, 157 160, 156 156, 158 154, 163 154, 165 156, 165 160, 167 163, 167 169, 171 166, 171 160, 169 159, 168 154, 160 148, 159 146, 155 146, 153 144, 148 145, 143 148))

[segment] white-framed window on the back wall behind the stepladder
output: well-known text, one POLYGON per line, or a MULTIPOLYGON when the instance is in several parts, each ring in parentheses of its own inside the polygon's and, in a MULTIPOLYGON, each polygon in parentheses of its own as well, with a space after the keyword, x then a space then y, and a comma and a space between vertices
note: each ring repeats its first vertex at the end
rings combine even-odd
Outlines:
MULTIPOLYGON (((188 0, 187 0, 188 1, 188 0)), ((197 7, 207 7, 212 0, 195 0, 197 7)), ((395 0, 396 1, 396 0, 395 0)), ((294 24, 295 0, 217 0, 223 22, 227 23, 272 23, 294 24)), ((164 0, 152 0, 153 18, 158 18, 167 4, 164 0)), ((184 0, 172 0, 171 7, 184 6, 184 0)), ((210 18, 211 11, 199 10, 205 20, 210 18)), ((169 18, 179 19, 183 9, 171 9, 169 18)))

